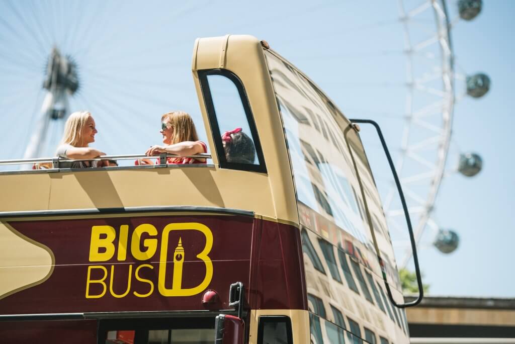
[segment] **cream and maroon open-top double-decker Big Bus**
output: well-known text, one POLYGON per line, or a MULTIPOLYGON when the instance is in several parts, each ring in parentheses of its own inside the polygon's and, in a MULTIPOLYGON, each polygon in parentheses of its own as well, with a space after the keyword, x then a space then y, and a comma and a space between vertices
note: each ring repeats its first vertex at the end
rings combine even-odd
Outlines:
POLYGON ((407 343, 358 126, 251 36, 192 71, 207 164, 0 172, 0 342, 407 343))

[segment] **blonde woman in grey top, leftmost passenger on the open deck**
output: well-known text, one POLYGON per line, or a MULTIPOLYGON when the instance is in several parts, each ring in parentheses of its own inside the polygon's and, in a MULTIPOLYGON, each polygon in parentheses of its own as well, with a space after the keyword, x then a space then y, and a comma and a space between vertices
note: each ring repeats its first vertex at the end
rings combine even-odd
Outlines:
MULTIPOLYGON (((57 156, 68 159, 94 159, 105 156, 106 153, 89 147, 95 142, 95 134, 98 132, 95 127, 95 120, 88 111, 74 112, 66 120, 64 134, 61 144, 57 147, 57 156)), ((108 166, 107 161, 74 161, 62 162, 62 168, 83 168, 108 166)))

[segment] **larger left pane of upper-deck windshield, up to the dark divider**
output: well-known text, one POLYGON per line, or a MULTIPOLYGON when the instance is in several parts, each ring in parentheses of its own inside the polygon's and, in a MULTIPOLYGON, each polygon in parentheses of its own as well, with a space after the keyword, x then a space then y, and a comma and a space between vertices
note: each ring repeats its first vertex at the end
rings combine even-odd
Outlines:
POLYGON ((359 208, 362 196, 352 192, 359 190, 359 183, 344 134, 348 121, 295 68, 269 50, 265 57, 285 129, 297 201, 372 248, 367 217, 359 208))

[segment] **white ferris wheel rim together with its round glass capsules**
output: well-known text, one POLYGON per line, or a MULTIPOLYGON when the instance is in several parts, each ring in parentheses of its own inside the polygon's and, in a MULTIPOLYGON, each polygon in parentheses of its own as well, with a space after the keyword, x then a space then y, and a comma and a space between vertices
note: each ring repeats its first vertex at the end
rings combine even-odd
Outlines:
MULTIPOLYGON (((459 15, 456 19, 450 18, 445 0, 428 0, 415 7, 411 3, 399 0, 407 92, 396 169, 419 248, 429 243, 448 254, 458 247, 459 236, 455 230, 441 227, 433 216, 442 179, 453 172, 473 177, 483 165, 479 154, 459 152, 453 166, 449 166, 454 107, 465 95, 479 98, 490 88, 486 74, 463 75, 456 71, 451 29, 459 20, 473 20, 482 10, 482 1, 452 3, 459 15), (428 25, 431 17, 433 23, 428 25)), ((399 220, 404 212, 394 199, 396 193, 391 185, 383 200, 384 210, 390 229, 402 230, 399 220)), ((411 253, 410 248, 404 250, 398 261, 400 267, 407 266, 411 253)))

